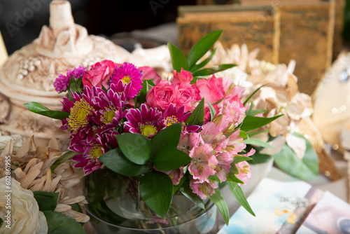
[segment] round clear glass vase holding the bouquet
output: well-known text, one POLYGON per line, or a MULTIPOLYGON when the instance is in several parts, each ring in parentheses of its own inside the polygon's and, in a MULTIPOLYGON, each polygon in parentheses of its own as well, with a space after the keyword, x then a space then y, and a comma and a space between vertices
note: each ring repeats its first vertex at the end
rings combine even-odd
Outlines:
POLYGON ((190 233, 211 234, 218 230, 217 209, 210 200, 205 210, 180 192, 172 199, 165 219, 155 214, 139 195, 140 177, 124 177, 107 168, 85 178, 85 205, 97 233, 190 233))

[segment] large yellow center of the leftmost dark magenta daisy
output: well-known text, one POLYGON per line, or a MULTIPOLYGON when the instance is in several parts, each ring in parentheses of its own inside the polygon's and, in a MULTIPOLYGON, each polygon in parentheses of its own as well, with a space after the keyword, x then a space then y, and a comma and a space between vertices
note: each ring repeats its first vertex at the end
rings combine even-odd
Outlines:
POLYGON ((71 114, 68 118, 69 127, 71 130, 77 131, 80 128, 85 127, 87 122, 87 116, 94 111, 94 108, 85 101, 85 99, 80 99, 74 103, 74 106, 71 107, 71 114))

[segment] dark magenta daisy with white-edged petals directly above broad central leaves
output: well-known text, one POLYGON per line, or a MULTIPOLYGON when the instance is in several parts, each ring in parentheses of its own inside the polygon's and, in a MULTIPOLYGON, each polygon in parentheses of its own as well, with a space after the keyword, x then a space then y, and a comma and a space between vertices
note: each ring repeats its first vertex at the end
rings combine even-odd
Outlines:
POLYGON ((146 104, 141 104, 139 109, 130 109, 126 115, 125 132, 139 133, 151 139, 160 130, 165 128, 162 112, 158 109, 147 109, 146 104))

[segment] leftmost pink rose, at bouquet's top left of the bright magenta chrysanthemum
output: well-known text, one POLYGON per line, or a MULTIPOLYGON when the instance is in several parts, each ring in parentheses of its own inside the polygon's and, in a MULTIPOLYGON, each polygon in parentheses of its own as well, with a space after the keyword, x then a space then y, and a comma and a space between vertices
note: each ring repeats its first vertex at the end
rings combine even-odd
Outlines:
POLYGON ((93 64, 90 70, 86 71, 83 76, 83 85, 87 85, 90 88, 92 88, 92 86, 102 88, 103 85, 104 88, 108 89, 109 78, 111 78, 114 69, 118 65, 119 64, 116 64, 111 60, 104 60, 93 64))

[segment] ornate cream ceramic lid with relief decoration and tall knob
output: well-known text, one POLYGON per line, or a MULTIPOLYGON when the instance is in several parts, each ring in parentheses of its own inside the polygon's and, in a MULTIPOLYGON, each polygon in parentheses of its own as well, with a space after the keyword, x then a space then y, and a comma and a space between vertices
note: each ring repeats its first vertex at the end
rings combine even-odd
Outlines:
POLYGON ((0 130, 43 140, 67 139, 68 132, 59 130, 61 121, 31 113, 23 104, 39 102, 62 109, 59 100, 64 94, 53 86, 58 74, 101 60, 129 62, 130 53, 74 24, 69 1, 52 1, 50 27, 44 25, 38 39, 13 53, 0 68, 0 130))

